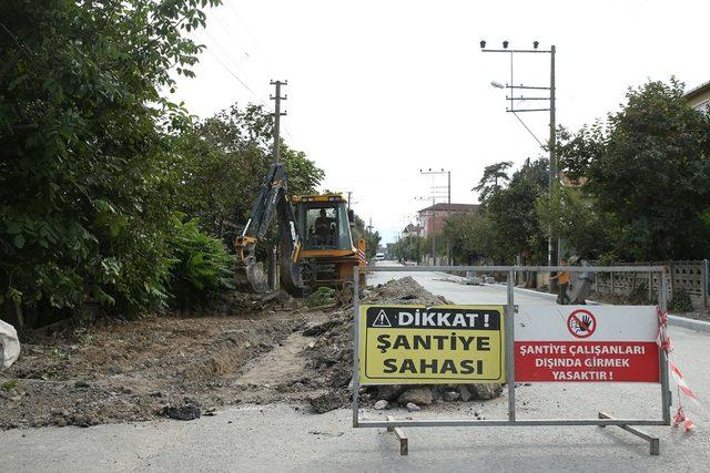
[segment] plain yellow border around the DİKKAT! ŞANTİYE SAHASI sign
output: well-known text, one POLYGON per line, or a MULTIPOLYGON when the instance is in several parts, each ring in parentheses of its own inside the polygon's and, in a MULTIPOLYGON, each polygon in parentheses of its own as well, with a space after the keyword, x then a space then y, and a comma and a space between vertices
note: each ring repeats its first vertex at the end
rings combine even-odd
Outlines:
MULTIPOLYGON (((486 304, 486 305, 471 305, 471 304, 452 304, 452 305, 435 305, 435 306, 426 306, 423 304, 367 304, 359 306, 359 313, 357 323, 359 325, 359 343, 358 343, 358 358, 359 358, 359 384, 361 385, 386 385, 386 384, 486 384, 486 383, 501 383, 506 380, 506 338, 505 338, 505 317, 506 317, 506 306, 505 305, 495 305, 495 304, 486 304), (393 377, 393 378, 369 378, 367 376, 367 309, 371 308, 383 308, 383 309, 392 309, 392 308, 435 308, 435 309, 476 309, 476 310, 495 310, 500 315, 500 327, 499 330, 493 330, 494 332, 499 335, 499 360, 500 360, 500 370, 498 378, 489 378, 489 379, 452 379, 452 378, 402 378, 402 376, 393 377)), ((440 330, 435 329, 435 330, 440 330)))

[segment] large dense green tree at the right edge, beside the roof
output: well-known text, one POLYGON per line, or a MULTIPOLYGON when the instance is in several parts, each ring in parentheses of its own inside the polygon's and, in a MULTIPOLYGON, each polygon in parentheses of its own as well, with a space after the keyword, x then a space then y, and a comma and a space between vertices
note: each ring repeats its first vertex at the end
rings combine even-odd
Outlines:
POLYGON ((629 89, 607 123, 562 136, 561 168, 607 215, 608 251, 640 260, 701 258, 710 250, 710 117, 683 85, 629 89))

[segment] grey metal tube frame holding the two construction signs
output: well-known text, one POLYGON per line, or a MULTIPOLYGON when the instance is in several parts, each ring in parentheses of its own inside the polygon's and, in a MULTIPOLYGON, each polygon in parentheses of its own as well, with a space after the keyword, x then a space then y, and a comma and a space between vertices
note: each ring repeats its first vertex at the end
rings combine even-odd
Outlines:
MULTIPOLYGON (((662 312, 667 309, 667 274, 665 266, 368 266, 367 273, 436 273, 436 271, 480 271, 507 273, 507 304, 505 317, 505 353, 506 385, 508 390, 508 419, 416 419, 396 420, 388 417, 386 421, 361 419, 359 417, 359 271, 353 271, 353 389, 352 411, 354 428, 386 428, 395 432, 400 443, 407 443, 400 428, 415 426, 529 426, 529 425, 608 425, 619 426, 650 444, 650 454, 660 452, 659 440, 632 425, 670 425, 671 391, 669 385, 668 356, 659 350, 661 419, 616 419, 604 412, 591 419, 517 419, 515 403, 515 274, 517 271, 568 271, 568 273, 658 273, 658 306, 662 312)), ((402 445, 400 445, 402 446, 402 445)), ((402 449, 402 451, 408 449, 402 449)), ((403 453, 404 454, 404 453, 403 453)))

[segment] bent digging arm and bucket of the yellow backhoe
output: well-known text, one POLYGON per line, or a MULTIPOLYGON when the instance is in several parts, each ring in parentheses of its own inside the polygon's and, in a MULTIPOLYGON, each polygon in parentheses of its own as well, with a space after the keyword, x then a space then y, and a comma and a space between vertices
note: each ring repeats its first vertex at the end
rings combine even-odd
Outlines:
POLYGON ((252 207, 250 219, 242 233, 236 237, 236 287, 245 292, 268 292, 268 281, 264 267, 256 260, 256 245, 264 239, 274 219, 278 218, 278 240, 281 243, 280 280, 288 294, 301 296, 301 235, 296 219, 287 197, 287 175, 284 165, 274 163, 268 168, 258 196, 252 207))

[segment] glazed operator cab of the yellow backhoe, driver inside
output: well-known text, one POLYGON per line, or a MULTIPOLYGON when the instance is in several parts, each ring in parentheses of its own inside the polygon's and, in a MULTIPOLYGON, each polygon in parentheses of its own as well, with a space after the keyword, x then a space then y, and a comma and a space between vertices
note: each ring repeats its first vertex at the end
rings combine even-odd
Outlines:
POLYGON ((347 202, 339 195, 293 198, 298 232, 306 251, 352 250, 347 202))

